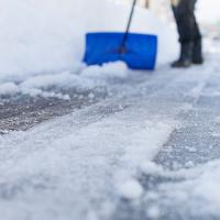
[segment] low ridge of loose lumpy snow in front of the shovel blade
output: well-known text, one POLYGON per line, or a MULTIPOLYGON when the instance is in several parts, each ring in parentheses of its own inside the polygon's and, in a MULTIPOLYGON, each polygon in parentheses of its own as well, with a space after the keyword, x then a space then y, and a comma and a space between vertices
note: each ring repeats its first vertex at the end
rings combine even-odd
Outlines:
POLYGON ((84 68, 79 74, 62 72, 58 74, 30 75, 21 81, 0 84, 0 97, 14 95, 55 97, 69 100, 68 95, 48 91, 52 88, 94 89, 98 86, 108 86, 111 80, 125 79, 130 70, 122 62, 91 66, 84 68))

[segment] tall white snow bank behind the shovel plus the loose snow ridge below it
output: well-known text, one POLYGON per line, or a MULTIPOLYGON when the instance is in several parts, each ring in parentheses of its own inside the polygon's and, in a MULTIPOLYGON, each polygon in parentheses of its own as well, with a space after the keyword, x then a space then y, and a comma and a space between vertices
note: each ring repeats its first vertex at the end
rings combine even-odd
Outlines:
MULTIPOLYGON (((85 34, 124 31, 130 7, 108 0, 0 1, 0 96, 20 94, 68 100, 66 94, 46 90, 88 90, 129 78, 130 70, 121 62, 86 67, 81 59, 85 34), (81 16, 85 11, 87 15, 81 16)), ((176 42, 175 30, 150 11, 136 8, 131 31, 158 35, 158 65, 176 55, 177 44, 172 50, 169 46, 176 42)))

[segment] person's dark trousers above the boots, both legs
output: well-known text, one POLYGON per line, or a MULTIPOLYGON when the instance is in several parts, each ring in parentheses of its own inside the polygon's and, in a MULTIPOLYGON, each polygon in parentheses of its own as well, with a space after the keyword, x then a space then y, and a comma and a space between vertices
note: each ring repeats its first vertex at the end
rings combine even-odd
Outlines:
POLYGON ((195 4, 197 0, 180 0, 173 6, 174 16, 182 44, 201 40, 201 34, 195 16, 195 4))

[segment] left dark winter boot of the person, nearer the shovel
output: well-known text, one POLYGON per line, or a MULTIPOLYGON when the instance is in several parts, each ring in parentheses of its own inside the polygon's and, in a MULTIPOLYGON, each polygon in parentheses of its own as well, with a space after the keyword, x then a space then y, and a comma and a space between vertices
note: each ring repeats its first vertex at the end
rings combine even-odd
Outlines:
POLYGON ((194 44, 193 43, 184 43, 182 44, 182 50, 180 50, 180 57, 176 62, 172 64, 173 68, 187 68, 191 66, 193 63, 193 48, 194 44))

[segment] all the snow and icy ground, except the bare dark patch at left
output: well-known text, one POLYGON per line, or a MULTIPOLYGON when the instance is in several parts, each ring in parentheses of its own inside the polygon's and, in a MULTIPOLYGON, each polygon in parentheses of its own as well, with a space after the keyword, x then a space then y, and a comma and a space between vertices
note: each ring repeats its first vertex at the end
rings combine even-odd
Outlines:
POLYGON ((129 7, 81 2, 0 0, 0 110, 18 97, 107 92, 0 135, 1 219, 219 219, 219 43, 207 42, 204 66, 172 70, 174 30, 136 9, 132 30, 160 36, 156 72, 86 67, 85 33, 123 30, 129 7))

